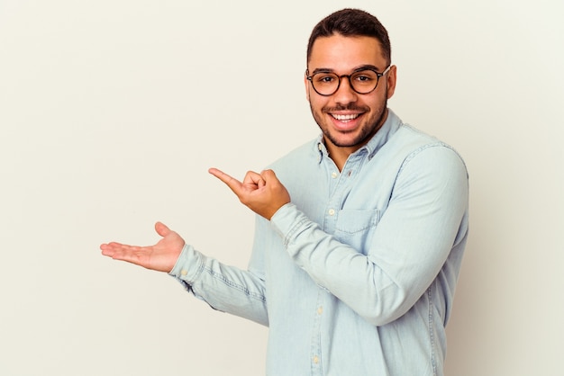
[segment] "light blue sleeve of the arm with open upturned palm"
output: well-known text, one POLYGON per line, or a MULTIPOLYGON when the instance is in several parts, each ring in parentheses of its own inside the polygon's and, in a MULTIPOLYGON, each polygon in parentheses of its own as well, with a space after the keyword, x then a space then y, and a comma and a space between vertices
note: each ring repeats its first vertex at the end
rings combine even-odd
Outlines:
POLYGON ((265 283, 257 274, 222 264, 185 245, 169 275, 213 309, 268 326, 265 283))

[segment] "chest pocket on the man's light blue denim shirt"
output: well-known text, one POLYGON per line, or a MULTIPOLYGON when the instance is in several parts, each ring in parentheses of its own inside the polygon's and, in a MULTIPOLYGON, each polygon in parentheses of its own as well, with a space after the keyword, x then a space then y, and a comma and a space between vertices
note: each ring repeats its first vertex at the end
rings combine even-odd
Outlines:
POLYGON ((337 215, 333 236, 366 255, 368 242, 380 220, 380 210, 339 210, 337 215))

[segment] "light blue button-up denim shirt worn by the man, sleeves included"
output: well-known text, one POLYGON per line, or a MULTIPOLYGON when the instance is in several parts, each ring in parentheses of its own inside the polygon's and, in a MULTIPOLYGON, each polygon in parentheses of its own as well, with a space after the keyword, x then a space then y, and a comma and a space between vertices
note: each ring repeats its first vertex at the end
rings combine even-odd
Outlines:
POLYGON ((291 203, 257 218, 248 270, 186 245, 170 272, 268 326, 268 375, 442 375, 468 175, 394 112, 340 172, 322 138, 270 166, 291 203))

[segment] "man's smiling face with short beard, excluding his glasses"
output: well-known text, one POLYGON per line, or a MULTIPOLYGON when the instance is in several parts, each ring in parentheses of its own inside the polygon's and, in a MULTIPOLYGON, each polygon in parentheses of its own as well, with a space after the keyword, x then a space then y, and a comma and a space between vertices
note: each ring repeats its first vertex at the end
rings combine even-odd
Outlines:
MULTIPOLYGON (((387 68, 378 40, 334 34, 315 40, 307 68, 310 75, 323 71, 341 76, 359 67, 375 67, 378 73, 387 68)), ((307 100, 330 153, 339 150, 350 154, 364 146, 386 121, 387 99, 395 88, 396 67, 380 77, 377 88, 368 94, 356 93, 347 77, 342 77, 339 90, 323 96, 305 79, 307 100)))

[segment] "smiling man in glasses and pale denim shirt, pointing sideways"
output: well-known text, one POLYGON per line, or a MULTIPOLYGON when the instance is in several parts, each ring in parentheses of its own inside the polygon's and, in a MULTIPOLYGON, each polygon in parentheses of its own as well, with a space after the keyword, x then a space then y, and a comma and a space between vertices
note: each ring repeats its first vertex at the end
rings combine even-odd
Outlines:
POLYGON ((320 137, 242 183, 210 169, 259 214, 249 269, 162 223, 155 246, 110 243, 103 254, 268 326, 268 374, 442 375, 468 175, 452 148, 387 108, 395 89, 386 29, 363 11, 332 13, 307 48, 320 137))

